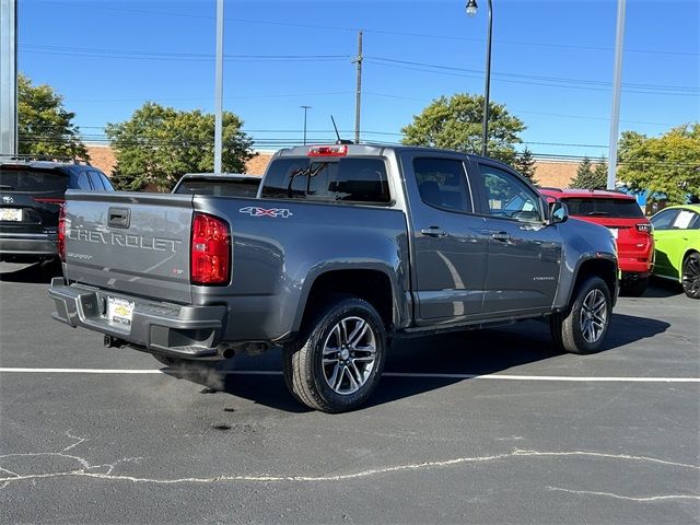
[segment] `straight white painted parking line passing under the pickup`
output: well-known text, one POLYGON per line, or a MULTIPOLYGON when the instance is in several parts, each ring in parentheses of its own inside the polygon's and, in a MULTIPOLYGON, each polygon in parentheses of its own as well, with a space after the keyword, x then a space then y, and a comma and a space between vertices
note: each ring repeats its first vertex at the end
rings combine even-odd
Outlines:
MULTIPOLYGON (((187 369, 24 369, 24 368, 0 368, 0 373, 23 373, 23 374, 162 374, 164 371, 176 371, 187 373, 187 369)), ((192 374, 198 373, 197 369, 191 370, 192 374)), ((282 375, 278 371, 265 370, 221 370, 208 371, 221 375, 282 375)), ((430 373, 404 373, 385 372, 386 377, 413 377, 429 380, 498 380, 498 381, 558 381, 570 383, 700 383, 700 377, 578 377, 571 375, 512 375, 512 374, 430 374, 430 373)))

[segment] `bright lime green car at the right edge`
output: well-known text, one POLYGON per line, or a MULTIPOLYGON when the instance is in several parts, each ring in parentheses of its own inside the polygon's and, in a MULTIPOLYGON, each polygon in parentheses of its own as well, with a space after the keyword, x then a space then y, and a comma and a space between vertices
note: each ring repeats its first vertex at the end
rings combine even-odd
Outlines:
POLYGON ((700 299, 700 205, 669 206, 651 218, 654 225, 654 275, 682 284, 700 299))

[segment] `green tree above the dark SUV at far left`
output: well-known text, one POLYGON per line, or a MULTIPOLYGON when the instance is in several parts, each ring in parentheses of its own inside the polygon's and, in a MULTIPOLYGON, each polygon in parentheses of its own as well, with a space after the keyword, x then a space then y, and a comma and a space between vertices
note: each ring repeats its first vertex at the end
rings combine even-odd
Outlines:
POLYGON ((20 154, 69 156, 90 160, 72 124, 74 113, 63 108, 63 97, 50 85, 32 85, 18 75, 18 151, 20 154))

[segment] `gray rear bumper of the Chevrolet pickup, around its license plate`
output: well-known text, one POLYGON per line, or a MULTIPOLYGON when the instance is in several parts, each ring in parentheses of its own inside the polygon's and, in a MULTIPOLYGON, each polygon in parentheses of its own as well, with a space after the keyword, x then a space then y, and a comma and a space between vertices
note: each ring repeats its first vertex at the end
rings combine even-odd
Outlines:
POLYGON ((224 332, 225 306, 147 301, 79 284, 67 285, 60 277, 51 280, 48 296, 56 304, 52 317, 72 327, 88 328, 152 353, 184 359, 220 357, 217 345, 224 332), (130 325, 106 317, 107 296, 135 303, 130 325))

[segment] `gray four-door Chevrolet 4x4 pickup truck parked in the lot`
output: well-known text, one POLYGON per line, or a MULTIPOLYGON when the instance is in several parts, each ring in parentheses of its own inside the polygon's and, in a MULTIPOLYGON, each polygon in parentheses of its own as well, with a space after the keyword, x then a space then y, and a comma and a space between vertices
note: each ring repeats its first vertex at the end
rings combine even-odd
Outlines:
POLYGON ((166 364, 283 349, 308 407, 364 402, 392 341, 541 318, 599 349, 615 241, 499 162, 339 144, 271 160, 256 198, 69 191, 54 317, 166 364))

